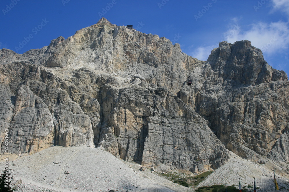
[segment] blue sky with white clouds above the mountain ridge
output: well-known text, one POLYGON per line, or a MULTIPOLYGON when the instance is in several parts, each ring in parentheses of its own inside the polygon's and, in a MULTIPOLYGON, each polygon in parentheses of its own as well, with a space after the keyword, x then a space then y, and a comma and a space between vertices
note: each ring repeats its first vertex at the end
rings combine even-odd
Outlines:
POLYGON ((166 37, 199 60, 221 41, 248 39, 268 64, 289 73, 288 0, 1 0, 0 10, 0 48, 20 54, 105 17, 166 37))

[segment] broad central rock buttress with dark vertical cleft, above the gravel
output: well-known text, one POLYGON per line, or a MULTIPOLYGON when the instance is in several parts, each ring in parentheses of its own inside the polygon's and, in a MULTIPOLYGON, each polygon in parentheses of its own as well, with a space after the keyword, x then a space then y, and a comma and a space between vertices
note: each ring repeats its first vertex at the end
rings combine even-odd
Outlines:
POLYGON ((107 128, 102 129, 99 147, 147 166, 197 166, 203 171, 204 165, 225 163, 227 152, 207 122, 166 88, 134 85, 118 94, 110 102, 116 107, 108 115, 107 128))

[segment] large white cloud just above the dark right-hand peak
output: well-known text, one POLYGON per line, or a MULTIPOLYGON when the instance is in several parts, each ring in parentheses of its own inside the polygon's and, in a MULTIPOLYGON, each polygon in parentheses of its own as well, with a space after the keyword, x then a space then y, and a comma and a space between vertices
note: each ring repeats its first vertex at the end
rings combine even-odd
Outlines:
MULTIPOLYGON (((238 26, 238 25, 236 25, 238 26)), ((273 54, 289 47, 289 28, 286 22, 251 24, 250 29, 242 31, 240 27, 229 29, 224 33, 225 41, 234 43, 247 39, 252 45, 261 49, 262 52, 273 54)))

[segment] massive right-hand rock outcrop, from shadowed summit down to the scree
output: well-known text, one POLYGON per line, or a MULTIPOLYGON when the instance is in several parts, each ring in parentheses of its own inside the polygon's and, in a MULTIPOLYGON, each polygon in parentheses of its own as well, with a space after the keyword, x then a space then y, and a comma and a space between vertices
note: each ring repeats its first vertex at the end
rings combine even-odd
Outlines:
POLYGON ((257 160, 278 139, 286 142, 280 136, 289 126, 287 75, 272 69, 250 41, 221 42, 191 76, 196 83, 183 87, 180 98, 210 121, 227 149, 257 160))

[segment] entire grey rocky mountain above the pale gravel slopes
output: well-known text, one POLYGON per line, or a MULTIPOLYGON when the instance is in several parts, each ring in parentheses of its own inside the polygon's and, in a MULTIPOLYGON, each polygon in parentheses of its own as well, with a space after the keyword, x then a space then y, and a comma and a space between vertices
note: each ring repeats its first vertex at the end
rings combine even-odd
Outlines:
POLYGON ((86 145, 164 172, 216 169, 229 151, 288 162, 288 85, 248 40, 200 61, 102 18, 41 49, 1 50, 0 138, 8 129, 20 156, 86 145))

